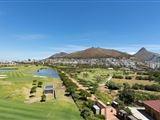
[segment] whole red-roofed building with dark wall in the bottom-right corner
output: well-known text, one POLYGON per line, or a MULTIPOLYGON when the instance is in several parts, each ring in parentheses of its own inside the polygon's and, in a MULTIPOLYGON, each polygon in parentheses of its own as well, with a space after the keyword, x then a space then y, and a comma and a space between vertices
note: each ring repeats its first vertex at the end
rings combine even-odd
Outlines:
POLYGON ((160 120, 160 100, 144 101, 146 112, 155 120, 160 120))

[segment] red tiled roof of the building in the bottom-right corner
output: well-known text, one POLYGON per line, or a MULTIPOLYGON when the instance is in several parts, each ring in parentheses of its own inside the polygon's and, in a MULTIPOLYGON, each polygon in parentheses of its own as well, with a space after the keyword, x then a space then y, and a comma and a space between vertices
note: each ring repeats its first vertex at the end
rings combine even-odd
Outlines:
POLYGON ((143 103, 160 113, 160 100, 149 100, 143 103))

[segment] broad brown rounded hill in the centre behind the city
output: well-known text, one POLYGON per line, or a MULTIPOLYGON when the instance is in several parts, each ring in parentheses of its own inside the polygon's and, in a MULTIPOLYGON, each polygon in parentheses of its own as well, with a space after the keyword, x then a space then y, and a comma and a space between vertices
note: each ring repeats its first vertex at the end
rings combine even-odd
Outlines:
MULTIPOLYGON (((54 57, 51 56, 50 58, 55 58, 55 56, 57 55, 54 55, 54 57)), ((86 50, 73 52, 70 54, 64 54, 61 57, 64 57, 64 58, 108 58, 108 57, 123 58, 123 57, 130 57, 130 55, 124 52, 113 50, 113 49, 103 49, 103 48, 92 47, 86 50)))

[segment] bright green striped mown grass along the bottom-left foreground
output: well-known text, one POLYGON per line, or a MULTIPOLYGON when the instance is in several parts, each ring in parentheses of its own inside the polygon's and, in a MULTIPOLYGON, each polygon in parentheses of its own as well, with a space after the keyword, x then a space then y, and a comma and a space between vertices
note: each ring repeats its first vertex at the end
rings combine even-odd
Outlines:
POLYGON ((44 104, 24 104, 0 100, 2 120, 80 120, 72 103, 53 101, 44 104))

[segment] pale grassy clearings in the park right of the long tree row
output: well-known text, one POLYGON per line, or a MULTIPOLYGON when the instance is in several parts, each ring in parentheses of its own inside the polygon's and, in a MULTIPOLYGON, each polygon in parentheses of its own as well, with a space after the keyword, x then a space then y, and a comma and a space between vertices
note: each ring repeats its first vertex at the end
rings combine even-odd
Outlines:
POLYGON ((108 70, 108 69, 103 69, 103 68, 95 68, 95 69, 83 69, 80 73, 77 74, 78 79, 83 79, 86 81, 91 81, 91 82, 98 82, 98 83, 106 83, 106 81, 109 78, 109 75, 121 75, 121 76, 133 76, 132 80, 126 80, 126 79, 115 79, 112 78, 112 81, 115 83, 123 84, 123 83, 129 83, 130 85, 133 85, 135 83, 140 83, 143 85, 151 85, 156 82, 154 81, 149 81, 149 80, 136 80, 135 79, 135 73, 128 73, 128 75, 125 75, 122 70, 108 70), (88 76, 84 76, 84 74, 87 73, 88 76), (100 80, 97 81, 96 77, 99 76, 100 80))

